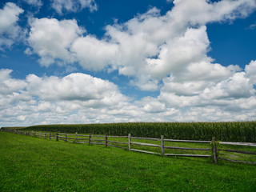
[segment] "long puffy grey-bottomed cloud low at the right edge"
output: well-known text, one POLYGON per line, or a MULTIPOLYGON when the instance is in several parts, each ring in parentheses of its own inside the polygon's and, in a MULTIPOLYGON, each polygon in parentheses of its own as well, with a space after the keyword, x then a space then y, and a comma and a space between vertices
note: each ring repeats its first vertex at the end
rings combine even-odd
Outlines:
MULTIPOLYGON (((248 101, 255 101, 254 78, 251 78, 250 67, 246 72, 234 72, 219 81, 185 81, 175 82, 166 78, 158 96, 160 102, 172 107, 219 107, 218 110, 248 110, 248 101)), ((254 77, 254 76, 253 76, 254 77)))

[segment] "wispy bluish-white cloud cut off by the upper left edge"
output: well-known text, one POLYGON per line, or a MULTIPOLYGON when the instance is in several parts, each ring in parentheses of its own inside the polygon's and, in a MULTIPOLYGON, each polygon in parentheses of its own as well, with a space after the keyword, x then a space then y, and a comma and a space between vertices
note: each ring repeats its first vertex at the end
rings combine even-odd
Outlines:
POLYGON ((6 2, 3 9, 0 9, 0 50, 5 46, 10 48, 14 41, 23 36, 18 26, 18 16, 23 12, 24 10, 12 2, 6 2))

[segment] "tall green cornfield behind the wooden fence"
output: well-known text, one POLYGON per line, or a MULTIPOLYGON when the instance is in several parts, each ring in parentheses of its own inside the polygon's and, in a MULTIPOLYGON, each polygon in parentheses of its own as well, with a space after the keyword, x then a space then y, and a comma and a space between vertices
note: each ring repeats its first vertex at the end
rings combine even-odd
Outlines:
POLYGON ((127 122, 28 126, 26 130, 127 135, 134 137, 256 142, 256 122, 127 122))

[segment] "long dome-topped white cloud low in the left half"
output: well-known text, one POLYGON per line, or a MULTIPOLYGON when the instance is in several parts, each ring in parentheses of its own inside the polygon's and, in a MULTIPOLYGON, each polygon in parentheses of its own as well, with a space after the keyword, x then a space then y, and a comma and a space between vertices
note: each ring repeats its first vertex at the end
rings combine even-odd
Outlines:
POLYGON ((78 101, 81 105, 98 107, 117 105, 126 100, 112 82, 93 78, 87 74, 70 74, 64 78, 55 76, 38 78, 30 74, 26 78, 26 90, 43 101, 78 101))

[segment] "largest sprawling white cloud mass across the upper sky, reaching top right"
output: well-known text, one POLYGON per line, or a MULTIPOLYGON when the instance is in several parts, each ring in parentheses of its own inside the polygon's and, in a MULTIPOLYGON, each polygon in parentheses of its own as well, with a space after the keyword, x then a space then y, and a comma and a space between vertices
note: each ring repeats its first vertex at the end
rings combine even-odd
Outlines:
POLYGON ((41 29, 37 22, 31 25, 29 42, 41 57, 42 66, 60 63, 61 59, 62 63, 78 62, 86 70, 118 70, 119 74, 133 77, 130 84, 141 90, 158 90, 162 79, 168 76, 176 82, 184 81, 182 78, 218 81, 232 75, 238 67, 221 66, 207 56, 210 41, 206 24, 232 22, 255 8, 254 0, 174 1, 173 9, 165 15, 154 7, 127 22, 106 26, 102 39, 91 34, 84 36, 74 20, 36 19, 43 24, 41 29), (52 28, 50 22, 58 26, 56 30, 46 30, 52 28), (68 32, 64 22, 74 23, 69 26, 72 35, 67 37, 62 36, 68 32))

